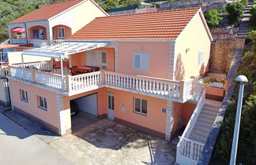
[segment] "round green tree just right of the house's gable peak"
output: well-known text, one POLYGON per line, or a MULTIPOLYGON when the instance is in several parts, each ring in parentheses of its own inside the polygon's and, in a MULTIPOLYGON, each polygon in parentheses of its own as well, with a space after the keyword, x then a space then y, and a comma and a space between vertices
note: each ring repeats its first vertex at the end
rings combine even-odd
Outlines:
POLYGON ((222 20, 222 17, 219 16, 219 13, 216 9, 210 9, 207 12, 205 12, 205 20, 209 27, 216 27, 220 23, 220 20, 222 20))

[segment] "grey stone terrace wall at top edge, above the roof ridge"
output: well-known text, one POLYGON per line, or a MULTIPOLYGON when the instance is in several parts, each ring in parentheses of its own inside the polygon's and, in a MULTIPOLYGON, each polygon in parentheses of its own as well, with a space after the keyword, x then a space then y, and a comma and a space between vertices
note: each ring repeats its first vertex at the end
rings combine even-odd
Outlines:
POLYGON ((177 1, 160 4, 159 10, 165 9, 180 9, 188 7, 201 7, 205 12, 209 9, 222 9, 225 4, 225 0, 189 0, 189 1, 177 1))

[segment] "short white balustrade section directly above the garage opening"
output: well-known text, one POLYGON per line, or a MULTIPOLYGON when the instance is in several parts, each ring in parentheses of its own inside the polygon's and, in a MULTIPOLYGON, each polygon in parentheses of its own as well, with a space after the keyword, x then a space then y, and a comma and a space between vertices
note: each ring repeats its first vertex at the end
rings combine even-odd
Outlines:
POLYGON ((99 87, 101 83, 101 72, 85 73, 74 75, 68 78, 69 92, 79 90, 90 90, 99 87))

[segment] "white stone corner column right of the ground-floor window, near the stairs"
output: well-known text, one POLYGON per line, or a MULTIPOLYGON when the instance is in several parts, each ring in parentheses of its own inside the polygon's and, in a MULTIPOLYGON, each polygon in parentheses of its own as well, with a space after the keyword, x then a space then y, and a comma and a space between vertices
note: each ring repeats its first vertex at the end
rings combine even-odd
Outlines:
POLYGON ((165 140, 171 140, 171 130, 174 123, 173 112, 174 112, 174 103, 173 101, 168 101, 168 108, 166 110, 166 130, 165 130, 165 140))

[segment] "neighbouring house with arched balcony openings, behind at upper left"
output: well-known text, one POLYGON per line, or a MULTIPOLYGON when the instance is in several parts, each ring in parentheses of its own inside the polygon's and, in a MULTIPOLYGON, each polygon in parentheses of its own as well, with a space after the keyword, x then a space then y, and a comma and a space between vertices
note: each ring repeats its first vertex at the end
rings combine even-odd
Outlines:
POLYGON ((32 43, 34 47, 49 46, 63 42, 97 16, 108 16, 93 0, 59 2, 10 21, 9 42, 32 43), (24 38, 13 38, 13 29, 25 30, 24 38))

